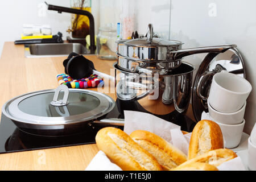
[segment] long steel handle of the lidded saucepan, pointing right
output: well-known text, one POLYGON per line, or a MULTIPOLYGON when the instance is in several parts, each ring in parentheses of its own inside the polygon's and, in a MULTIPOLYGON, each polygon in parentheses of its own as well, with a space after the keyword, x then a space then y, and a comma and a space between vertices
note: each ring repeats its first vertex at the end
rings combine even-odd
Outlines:
POLYGON ((196 53, 208 53, 208 52, 222 53, 234 47, 237 47, 237 46, 234 44, 231 44, 226 46, 197 47, 197 48, 189 48, 189 49, 178 49, 176 51, 171 51, 171 53, 173 53, 172 59, 177 60, 185 56, 194 55, 196 53))

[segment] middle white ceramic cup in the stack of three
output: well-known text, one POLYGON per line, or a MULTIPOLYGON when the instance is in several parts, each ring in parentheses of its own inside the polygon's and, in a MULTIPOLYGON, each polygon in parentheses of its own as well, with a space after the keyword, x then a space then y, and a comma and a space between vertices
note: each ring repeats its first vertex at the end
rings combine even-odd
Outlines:
POLYGON ((209 99, 207 101, 209 115, 214 120, 216 120, 219 123, 227 124, 227 125, 237 125, 242 123, 243 117, 245 115, 245 107, 246 102, 243 104, 242 108, 234 113, 221 113, 210 105, 209 99))

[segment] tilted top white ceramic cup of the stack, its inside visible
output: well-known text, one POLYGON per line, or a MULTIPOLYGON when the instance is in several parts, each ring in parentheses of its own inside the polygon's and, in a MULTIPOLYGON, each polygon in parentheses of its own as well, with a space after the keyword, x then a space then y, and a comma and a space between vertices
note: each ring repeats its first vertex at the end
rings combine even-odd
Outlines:
POLYGON ((216 73, 212 78, 208 100, 221 113, 234 113, 242 108, 251 92, 245 78, 229 72, 216 73))

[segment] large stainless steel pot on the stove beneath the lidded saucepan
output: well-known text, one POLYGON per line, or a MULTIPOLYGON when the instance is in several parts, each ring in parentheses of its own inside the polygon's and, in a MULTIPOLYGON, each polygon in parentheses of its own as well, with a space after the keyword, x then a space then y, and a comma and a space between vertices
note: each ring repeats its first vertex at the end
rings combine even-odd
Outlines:
POLYGON ((117 63, 114 68, 119 71, 116 75, 119 100, 138 102, 143 110, 156 115, 187 112, 195 71, 192 65, 181 63, 170 75, 130 73, 120 69, 117 63))

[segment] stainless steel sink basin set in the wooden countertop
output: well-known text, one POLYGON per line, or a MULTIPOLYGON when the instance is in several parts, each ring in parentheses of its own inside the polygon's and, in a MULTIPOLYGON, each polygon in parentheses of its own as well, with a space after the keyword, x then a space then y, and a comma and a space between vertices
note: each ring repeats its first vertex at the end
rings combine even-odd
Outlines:
POLYGON ((26 57, 67 56, 71 52, 76 52, 80 55, 90 53, 85 46, 79 43, 31 44, 25 47, 26 57))

